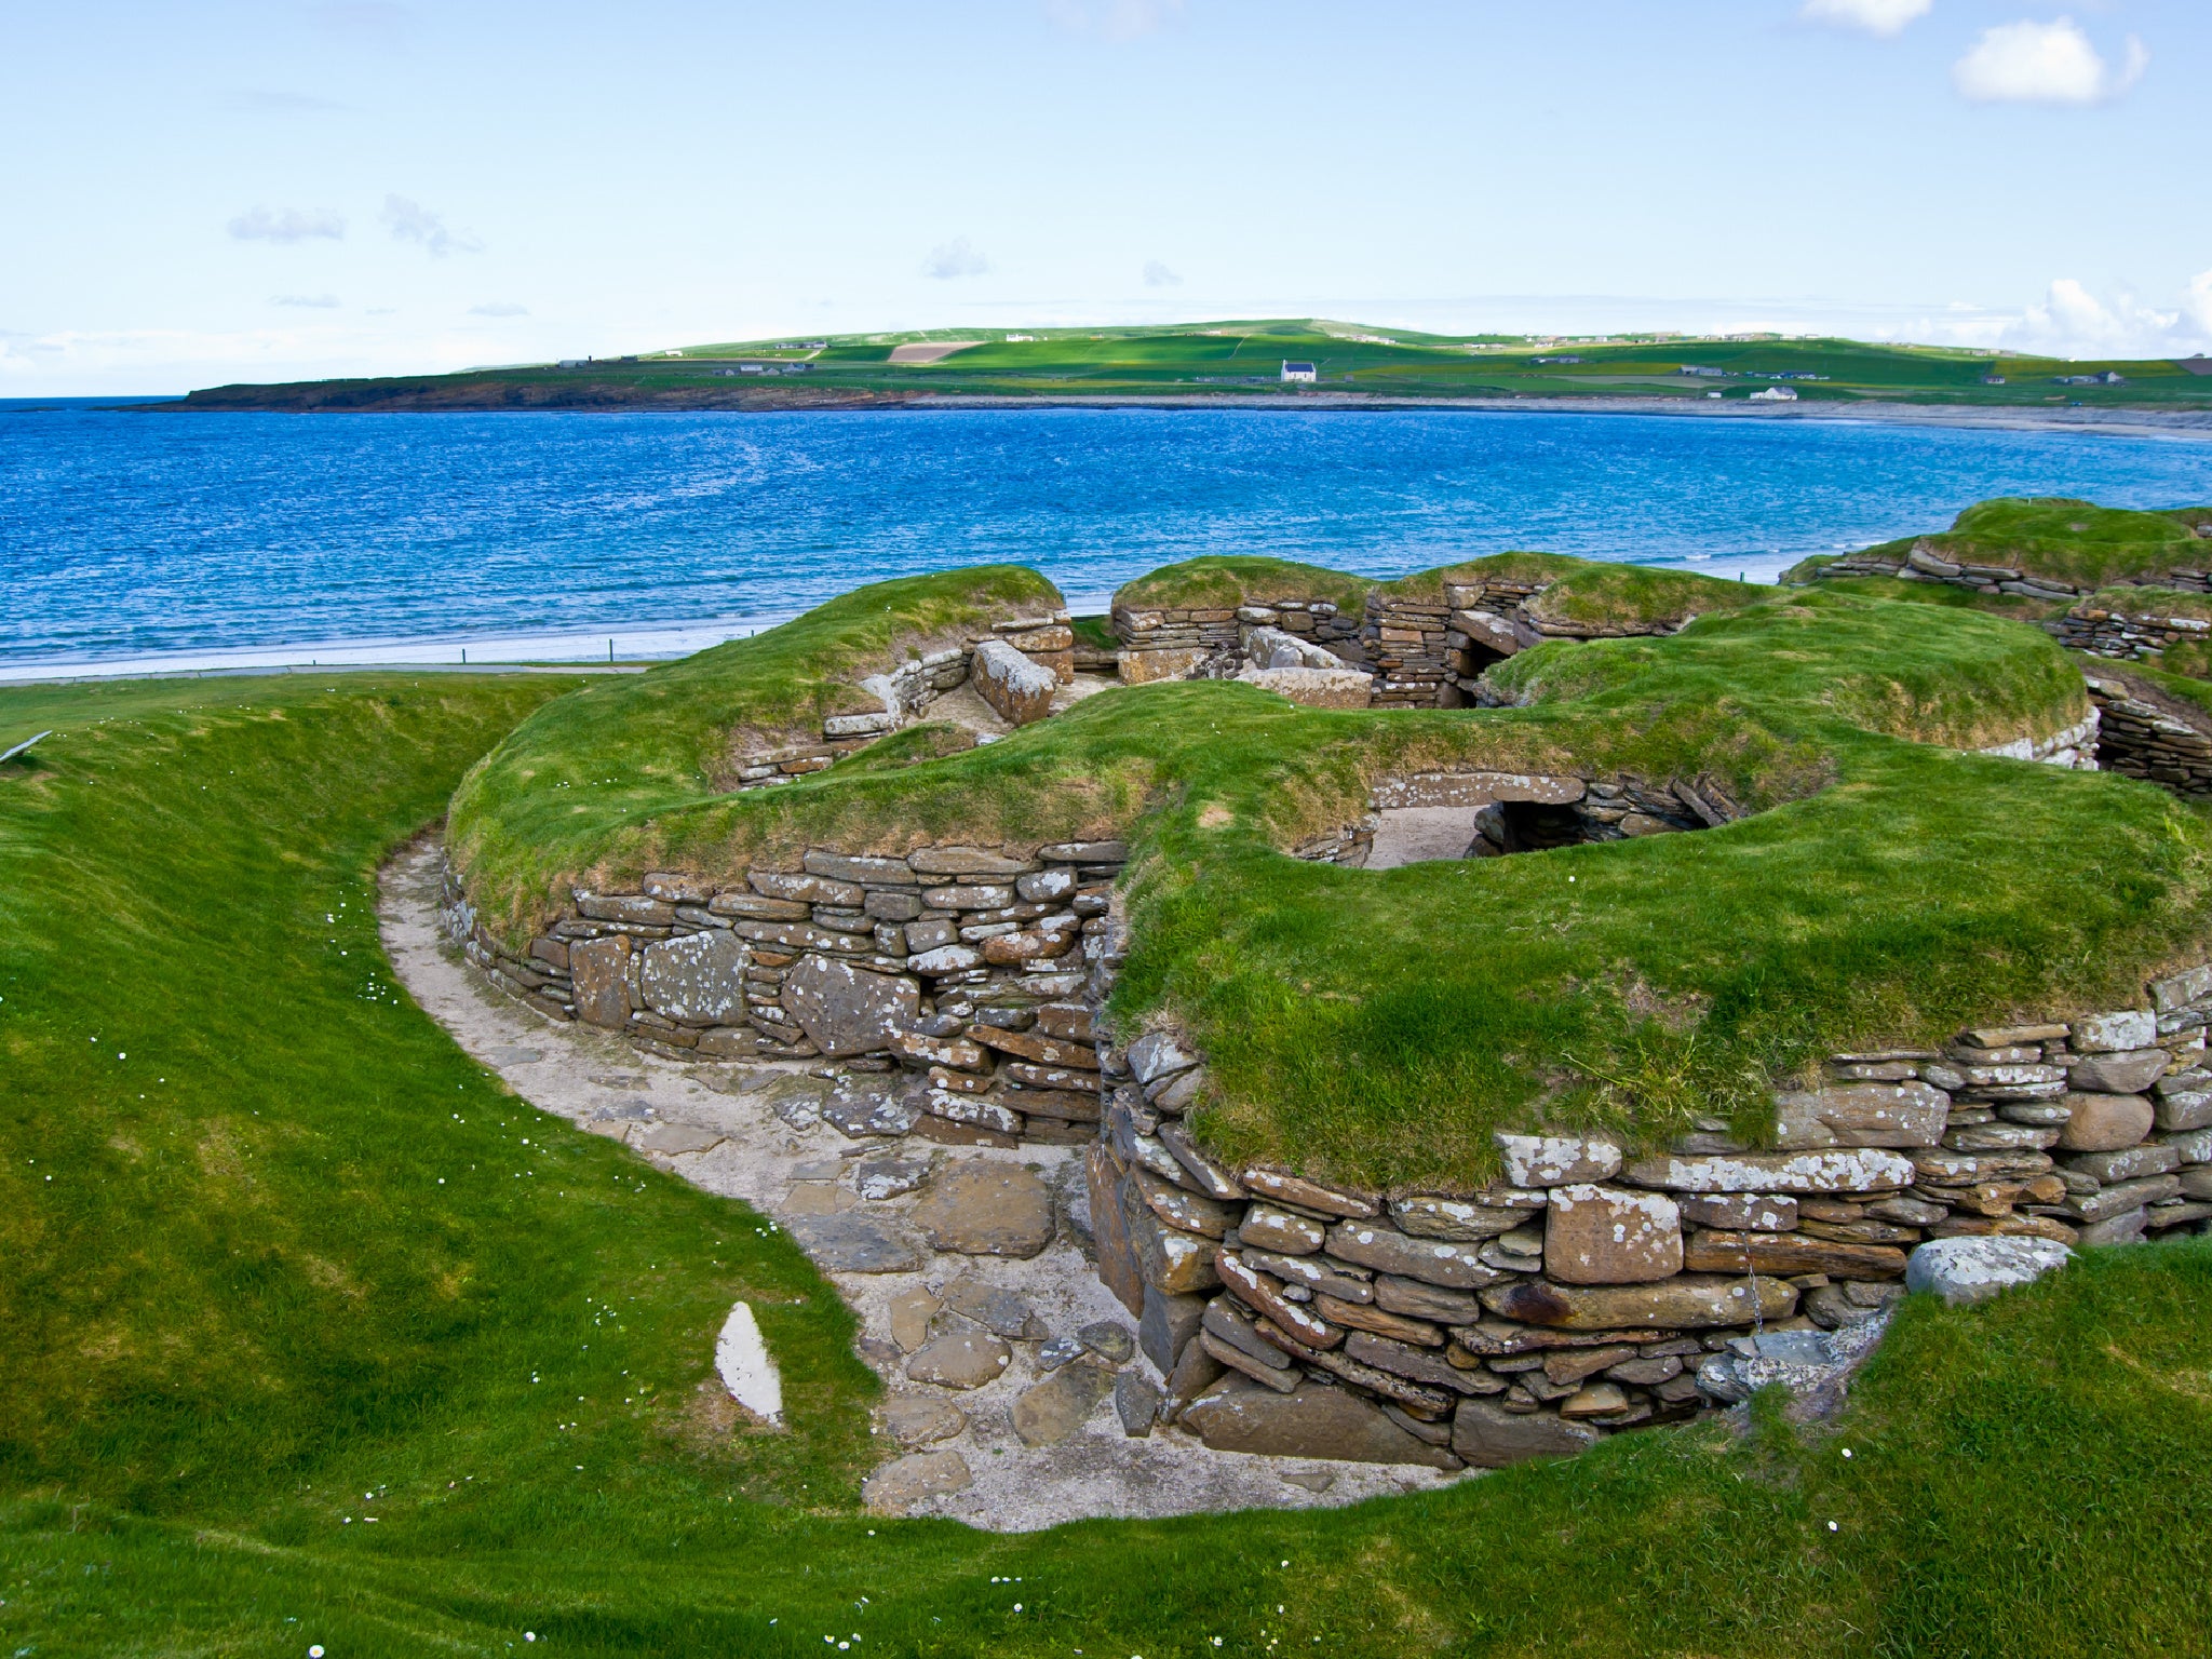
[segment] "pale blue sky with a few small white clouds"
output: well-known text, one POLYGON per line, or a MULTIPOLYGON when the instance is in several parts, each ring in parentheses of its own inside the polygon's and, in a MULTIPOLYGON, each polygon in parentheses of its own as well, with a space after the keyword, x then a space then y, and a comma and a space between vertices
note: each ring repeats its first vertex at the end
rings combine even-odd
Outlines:
POLYGON ((0 396, 1332 316, 2212 349, 2203 0, 0 0, 0 396))

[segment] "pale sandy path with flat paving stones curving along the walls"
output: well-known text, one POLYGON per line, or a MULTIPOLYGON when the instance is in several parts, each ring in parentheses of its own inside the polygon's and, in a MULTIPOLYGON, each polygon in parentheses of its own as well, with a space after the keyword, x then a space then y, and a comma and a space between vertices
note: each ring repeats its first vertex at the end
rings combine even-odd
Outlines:
POLYGON ((383 872, 385 951, 414 1000, 538 1110, 774 1217, 854 1307, 860 1356, 887 1385, 874 1509, 1018 1533, 1458 1478, 1208 1451, 1181 1429, 1128 1436, 1115 1385, 1141 1394, 1159 1376, 1084 1254, 1082 1148, 854 1139, 823 1117, 856 1121, 836 1082, 801 1066, 672 1064, 553 1024, 465 969, 438 929, 438 878, 427 836, 383 872))

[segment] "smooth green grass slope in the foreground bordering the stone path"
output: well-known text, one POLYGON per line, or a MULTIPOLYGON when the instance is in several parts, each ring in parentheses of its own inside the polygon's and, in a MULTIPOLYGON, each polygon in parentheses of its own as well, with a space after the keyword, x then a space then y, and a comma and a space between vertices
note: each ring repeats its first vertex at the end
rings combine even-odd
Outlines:
POLYGON ((1907 1305, 1823 1433, 1765 1411, 1325 1513, 854 1515, 872 1385, 787 1241, 529 1113, 387 989, 369 872, 553 690, 0 692, 0 730, 60 728, 0 774, 0 1650, 2201 1646, 2203 1241, 1907 1305), (739 1294, 785 1436, 690 1405, 739 1294))

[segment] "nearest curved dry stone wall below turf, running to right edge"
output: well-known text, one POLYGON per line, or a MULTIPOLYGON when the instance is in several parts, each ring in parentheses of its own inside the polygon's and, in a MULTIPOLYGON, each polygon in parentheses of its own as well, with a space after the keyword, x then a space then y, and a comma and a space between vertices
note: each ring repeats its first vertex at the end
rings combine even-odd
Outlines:
POLYGON ((2212 1221, 2212 964, 2148 1006, 1836 1055, 1657 1157, 1500 1135, 1478 1190, 1378 1192, 1214 1161, 1201 1057, 1104 1048, 1102 1281, 1164 1416, 1208 1444, 1495 1467, 1741 1400, 1878 1321, 1924 1241, 2104 1245, 2212 1221), (1356 1451, 1345 1451, 1356 1447, 1356 1451))

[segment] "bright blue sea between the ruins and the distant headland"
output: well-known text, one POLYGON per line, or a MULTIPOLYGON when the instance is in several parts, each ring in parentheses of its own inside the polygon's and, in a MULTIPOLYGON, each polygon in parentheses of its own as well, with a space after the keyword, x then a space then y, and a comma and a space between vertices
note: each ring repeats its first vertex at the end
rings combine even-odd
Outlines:
POLYGON ((2212 502, 2212 445, 1604 414, 131 414, 0 403, 0 679, 679 655, 858 582, 1502 549, 1772 580, 1989 495, 2212 502))

